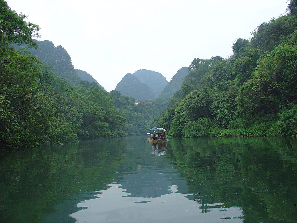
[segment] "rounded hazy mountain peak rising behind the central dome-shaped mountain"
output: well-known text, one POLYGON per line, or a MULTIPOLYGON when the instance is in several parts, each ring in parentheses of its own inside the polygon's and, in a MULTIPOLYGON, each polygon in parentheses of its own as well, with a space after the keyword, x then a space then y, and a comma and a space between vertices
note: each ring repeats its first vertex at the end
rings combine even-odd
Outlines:
POLYGON ((162 89, 168 84, 168 81, 162 74, 152 70, 137 70, 133 73, 133 75, 142 83, 149 86, 156 98, 159 96, 162 89))

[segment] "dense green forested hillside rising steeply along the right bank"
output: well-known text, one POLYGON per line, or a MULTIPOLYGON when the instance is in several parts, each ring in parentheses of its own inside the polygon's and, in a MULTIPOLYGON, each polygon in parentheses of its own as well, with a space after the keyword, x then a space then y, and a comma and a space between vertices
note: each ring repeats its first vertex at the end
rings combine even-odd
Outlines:
POLYGON ((297 1, 288 9, 230 58, 194 59, 159 124, 171 136, 296 136, 297 1))

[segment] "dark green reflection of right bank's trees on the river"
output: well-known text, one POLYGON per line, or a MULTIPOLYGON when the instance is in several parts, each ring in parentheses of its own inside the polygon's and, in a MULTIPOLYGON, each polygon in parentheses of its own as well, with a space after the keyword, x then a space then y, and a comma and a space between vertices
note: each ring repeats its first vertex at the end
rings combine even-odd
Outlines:
POLYGON ((296 139, 171 140, 167 154, 202 204, 244 211, 244 222, 296 222, 296 139))

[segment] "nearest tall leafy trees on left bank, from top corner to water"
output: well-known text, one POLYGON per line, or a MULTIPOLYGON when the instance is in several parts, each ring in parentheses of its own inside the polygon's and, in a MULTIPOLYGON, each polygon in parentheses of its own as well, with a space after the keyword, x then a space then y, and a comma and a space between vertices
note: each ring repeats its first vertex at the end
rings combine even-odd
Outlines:
POLYGON ((26 23, 25 15, 11 11, 0 1, 0 114, 1 149, 38 145, 49 135, 53 123, 53 100, 39 91, 46 81, 41 62, 27 51, 15 51, 11 43, 37 47, 39 26, 26 23))

